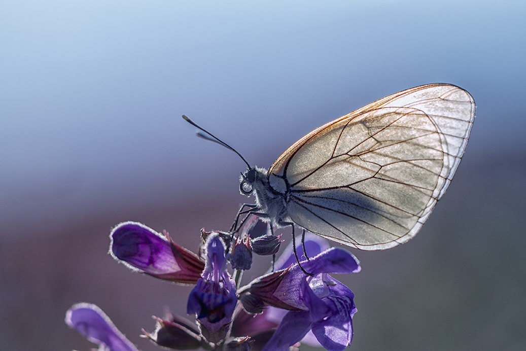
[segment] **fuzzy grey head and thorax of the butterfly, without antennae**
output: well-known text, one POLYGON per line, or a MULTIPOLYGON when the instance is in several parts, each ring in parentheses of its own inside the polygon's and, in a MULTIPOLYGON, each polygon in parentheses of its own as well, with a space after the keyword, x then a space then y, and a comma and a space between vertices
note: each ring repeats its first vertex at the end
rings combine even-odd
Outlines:
POLYGON ((270 186, 267 169, 250 168, 241 176, 240 182, 241 194, 256 197, 257 213, 266 214, 262 219, 267 218, 272 226, 278 227, 282 222, 290 222, 286 196, 270 186))

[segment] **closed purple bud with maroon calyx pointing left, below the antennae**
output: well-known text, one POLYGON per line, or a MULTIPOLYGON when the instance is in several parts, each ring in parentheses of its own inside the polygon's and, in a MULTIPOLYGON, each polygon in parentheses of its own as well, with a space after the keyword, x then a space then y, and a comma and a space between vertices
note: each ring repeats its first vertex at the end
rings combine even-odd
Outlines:
POLYGON ((128 268, 156 278, 195 284, 205 267, 196 254, 144 224, 125 222, 110 237, 110 254, 128 268))

